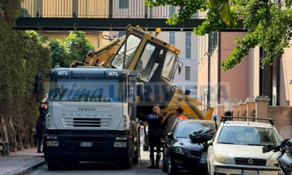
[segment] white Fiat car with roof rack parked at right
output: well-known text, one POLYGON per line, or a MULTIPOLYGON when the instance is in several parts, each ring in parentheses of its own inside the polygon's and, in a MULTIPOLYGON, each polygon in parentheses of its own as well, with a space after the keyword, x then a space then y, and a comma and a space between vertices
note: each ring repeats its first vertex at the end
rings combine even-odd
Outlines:
POLYGON ((273 124, 275 119, 257 118, 257 122, 227 121, 227 119, 239 120, 242 118, 254 119, 251 117, 223 117, 216 135, 208 142, 208 174, 268 175, 281 172, 275 165, 277 153, 262 152, 262 148, 266 144, 281 144, 279 133, 273 124), (262 123, 262 121, 266 123, 262 123), (272 143, 263 141, 264 137, 269 137, 272 143))

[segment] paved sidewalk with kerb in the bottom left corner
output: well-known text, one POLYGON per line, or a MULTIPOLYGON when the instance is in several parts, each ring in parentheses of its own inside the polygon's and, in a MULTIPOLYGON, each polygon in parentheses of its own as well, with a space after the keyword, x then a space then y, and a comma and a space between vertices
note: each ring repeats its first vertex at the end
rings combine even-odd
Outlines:
POLYGON ((44 153, 37 153, 37 147, 10 152, 0 156, 0 175, 22 175, 44 165, 44 153))

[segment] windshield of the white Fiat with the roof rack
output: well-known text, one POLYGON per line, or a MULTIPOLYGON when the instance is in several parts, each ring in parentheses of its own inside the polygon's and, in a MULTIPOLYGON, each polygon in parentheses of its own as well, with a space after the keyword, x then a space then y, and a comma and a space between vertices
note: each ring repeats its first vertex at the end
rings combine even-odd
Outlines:
POLYGON ((247 144, 264 146, 267 144, 279 145, 279 138, 273 128, 254 126, 225 126, 220 132, 219 143, 247 144), (270 141, 263 140, 268 137, 270 141))

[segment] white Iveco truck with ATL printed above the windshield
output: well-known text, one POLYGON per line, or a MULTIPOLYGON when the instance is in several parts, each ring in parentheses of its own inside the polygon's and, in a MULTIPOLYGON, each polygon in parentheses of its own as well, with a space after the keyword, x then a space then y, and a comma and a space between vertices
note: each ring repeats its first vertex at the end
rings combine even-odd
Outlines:
MULTIPOLYGON (((65 163, 117 163, 131 168, 140 148, 136 105, 143 85, 136 71, 104 67, 54 68, 49 74, 44 159, 65 163)), ((36 94, 44 74, 35 75, 36 94)))

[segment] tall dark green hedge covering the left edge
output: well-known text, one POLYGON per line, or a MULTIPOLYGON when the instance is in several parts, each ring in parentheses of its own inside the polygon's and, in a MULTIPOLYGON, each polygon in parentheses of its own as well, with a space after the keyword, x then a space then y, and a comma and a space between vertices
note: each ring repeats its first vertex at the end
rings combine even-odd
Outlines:
POLYGON ((19 12, 20 1, 0 0, 0 133, 10 145, 32 140, 40 105, 33 96, 35 73, 51 67, 38 33, 12 29, 19 12))

